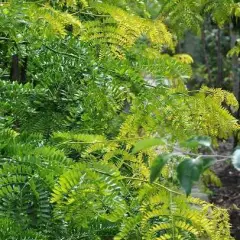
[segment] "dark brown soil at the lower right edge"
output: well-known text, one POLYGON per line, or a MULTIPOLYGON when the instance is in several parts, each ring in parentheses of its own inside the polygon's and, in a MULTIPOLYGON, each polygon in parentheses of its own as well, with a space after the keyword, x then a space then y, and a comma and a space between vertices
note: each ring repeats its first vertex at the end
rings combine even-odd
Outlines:
MULTIPOLYGON (((231 154, 232 145, 221 144, 219 154, 231 154)), ((230 163, 220 162, 214 166, 215 173, 222 181, 222 187, 211 187, 213 192, 210 201, 229 210, 232 225, 231 234, 240 240, 240 171, 230 163)))

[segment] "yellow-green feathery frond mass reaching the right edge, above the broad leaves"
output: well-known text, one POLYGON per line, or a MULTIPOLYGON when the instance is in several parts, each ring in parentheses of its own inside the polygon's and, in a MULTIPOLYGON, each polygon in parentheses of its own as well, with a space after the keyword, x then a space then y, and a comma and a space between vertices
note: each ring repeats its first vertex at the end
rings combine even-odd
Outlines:
POLYGON ((223 107, 227 104, 238 108, 233 94, 203 87, 197 94, 189 95, 182 87, 178 89, 168 92, 160 87, 155 89, 156 95, 150 89, 153 98, 148 99, 149 104, 141 106, 136 101, 132 108, 134 116, 129 116, 122 125, 121 138, 139 136, 140 129, 144 134, 155 129, 161 136, 170 134, 173 139, 186 139, 192 135, 228 138, 238 130, 237 120, 223 107))

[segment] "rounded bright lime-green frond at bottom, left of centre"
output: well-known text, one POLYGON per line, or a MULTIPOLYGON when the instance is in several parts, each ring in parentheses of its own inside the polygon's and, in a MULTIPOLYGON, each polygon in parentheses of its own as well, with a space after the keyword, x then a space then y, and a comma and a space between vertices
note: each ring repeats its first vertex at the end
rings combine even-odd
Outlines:
POLYGON ((59 178, 53 189, 51 202, 56 204, 55 217, 72 222, 82 231, 104 219, 109 225, 116 223, 116 228, 127 211, 120 179, 117 170, 109 169, 109 165, 74 165, 59 178))

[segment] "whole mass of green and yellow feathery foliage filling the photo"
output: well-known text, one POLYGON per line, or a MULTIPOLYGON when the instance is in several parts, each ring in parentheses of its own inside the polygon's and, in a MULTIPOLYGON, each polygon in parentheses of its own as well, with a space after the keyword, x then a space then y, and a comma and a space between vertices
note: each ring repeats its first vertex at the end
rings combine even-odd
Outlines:
POLYGON ((193 60, 174 49, 206 14, 223 25, 239 9, 1 3, 0 238, 231 239, 227 210, 190 194, 198 180, 218 184, 208 168, 230 157, 212 146, 237 134, 238 101, 188 91, 193 60))

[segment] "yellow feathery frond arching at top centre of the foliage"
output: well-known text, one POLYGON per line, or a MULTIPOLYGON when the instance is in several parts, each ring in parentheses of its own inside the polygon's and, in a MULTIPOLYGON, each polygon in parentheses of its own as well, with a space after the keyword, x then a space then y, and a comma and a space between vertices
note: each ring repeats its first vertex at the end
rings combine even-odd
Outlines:
POLYGON ((172 35, 160 21, 151 21, 106 4, 96 5, 95 8, 109 17, 102 21, 89 21, 84 24, 81 35, 83 41, 110 49, 118 56, 123 55, 123 50, 129 49, 142 36, 146 36, 153 46, 173 48, 172 35))

